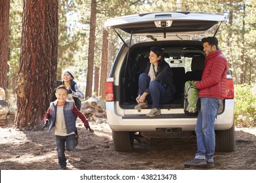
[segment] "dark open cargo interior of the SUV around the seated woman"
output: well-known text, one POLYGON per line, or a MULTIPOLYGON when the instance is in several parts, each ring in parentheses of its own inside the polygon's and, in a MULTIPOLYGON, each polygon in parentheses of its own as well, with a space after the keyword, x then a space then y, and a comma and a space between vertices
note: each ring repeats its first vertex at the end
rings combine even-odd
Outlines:
MULTIPOLYGON (((148 56, 150 47, 160 46, 165 54, 165 61, 173 71, 173 83, 177 92, 171 103, 161 104, 161 108, 183 107, 184 83, 187 80, 201 80, 204 52, 200 41, 158 41, 142 42, 131 46, 129 59, 127 56, 121 67, 119 104, 122 108, 134 108, 137 105, 139 75, 150 64, 148 56)), ((149 106, 150 108, 150 103, 149 106)))

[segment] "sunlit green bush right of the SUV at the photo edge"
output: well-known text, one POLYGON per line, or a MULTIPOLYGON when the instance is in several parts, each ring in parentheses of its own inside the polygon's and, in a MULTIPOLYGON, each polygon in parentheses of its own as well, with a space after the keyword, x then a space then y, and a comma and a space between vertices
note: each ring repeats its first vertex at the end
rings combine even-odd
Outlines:
POLYGON ((256 126, 256 83, 236 84, 234 121, 240 127, 256 126))

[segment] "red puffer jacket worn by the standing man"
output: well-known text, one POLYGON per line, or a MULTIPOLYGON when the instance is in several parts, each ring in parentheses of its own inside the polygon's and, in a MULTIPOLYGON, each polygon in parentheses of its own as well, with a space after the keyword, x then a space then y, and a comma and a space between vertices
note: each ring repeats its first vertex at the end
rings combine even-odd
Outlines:
POLYGON ((226 97, 226 72, 228 62, 221 50, 212 52, 205 58, 202 80, 196 84, 199 97, 224 99, 226 97))

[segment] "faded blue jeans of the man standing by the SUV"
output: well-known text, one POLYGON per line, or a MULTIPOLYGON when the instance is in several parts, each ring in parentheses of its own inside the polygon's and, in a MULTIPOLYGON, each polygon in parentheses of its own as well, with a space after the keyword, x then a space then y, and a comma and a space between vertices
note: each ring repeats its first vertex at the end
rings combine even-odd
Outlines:
POLYGON ((215 152, 214 122, 222 100, 210 97, 202 97, 200 100, 201 109, 196 122, 198 150, 195 158, 213 161, 215 152))

